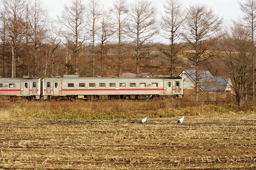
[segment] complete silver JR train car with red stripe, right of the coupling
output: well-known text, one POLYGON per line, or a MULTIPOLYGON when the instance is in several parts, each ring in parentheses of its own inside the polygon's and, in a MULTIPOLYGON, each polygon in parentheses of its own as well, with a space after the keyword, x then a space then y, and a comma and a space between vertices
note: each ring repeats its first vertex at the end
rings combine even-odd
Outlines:
POLYGON ((64 75, 63 78, 44 78, 42 97, 48 99, 151 99, 158 96, 182 98, 181 77, 91 77, 64 75))

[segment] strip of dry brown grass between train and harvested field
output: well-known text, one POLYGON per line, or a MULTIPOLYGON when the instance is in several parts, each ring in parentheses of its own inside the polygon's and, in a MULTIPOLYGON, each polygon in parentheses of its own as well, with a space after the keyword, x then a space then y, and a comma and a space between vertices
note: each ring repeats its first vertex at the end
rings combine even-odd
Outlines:
POLYGON ((186 115, 221 115, 255 113, 255 106, 239 111, 235 104, 201 104, 173 98, 149 101, 42 101, 0 102, 0 119, 118 119, 186 115))

